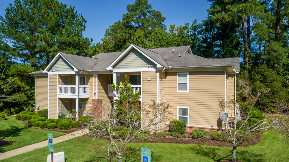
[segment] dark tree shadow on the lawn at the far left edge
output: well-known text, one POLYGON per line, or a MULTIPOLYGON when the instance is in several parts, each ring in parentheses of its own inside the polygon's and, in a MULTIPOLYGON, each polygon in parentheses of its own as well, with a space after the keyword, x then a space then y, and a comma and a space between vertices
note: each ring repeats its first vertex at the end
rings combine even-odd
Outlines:
MULTIPOLYGON (((27 129, 27 127, 18 128, 15 126, 10 126, 9 129, 2 129, 0 130, 0 140, 7 139, 8 137, 17 137, 20 136, 19 134, 24 130, 27 129)), ((5 152, 4 148, 7 146, 11 146, 14 143, 14 141, 11 141, 9 144, 5 144, 0 146, 0 153, 5 152)))

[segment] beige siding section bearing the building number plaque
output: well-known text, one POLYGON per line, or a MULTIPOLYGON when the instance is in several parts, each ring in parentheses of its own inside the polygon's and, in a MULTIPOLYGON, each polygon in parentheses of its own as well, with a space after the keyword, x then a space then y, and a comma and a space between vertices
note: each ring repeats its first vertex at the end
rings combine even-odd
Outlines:
POLYGON ((157 101, 157 72, 156 71, 143 71, 142 72, 142 103, 149 106, 148 102, 154 99, 157 101), (147 81, 151 78, 151 81, 147 81))

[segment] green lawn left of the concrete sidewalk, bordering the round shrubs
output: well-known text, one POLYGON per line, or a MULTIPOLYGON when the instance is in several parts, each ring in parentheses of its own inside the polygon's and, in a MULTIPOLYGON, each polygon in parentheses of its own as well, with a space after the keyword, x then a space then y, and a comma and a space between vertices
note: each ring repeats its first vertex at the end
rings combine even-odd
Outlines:
POLYGON ((0 153, 45 141, 47 133, 53 133, 53 137, 66 134, 25 127, 24 123, 17 121, 15 116, 6 116, 5 120, 0 121, 0 139, 10 140, 11 143, 0 146, 0 153))

